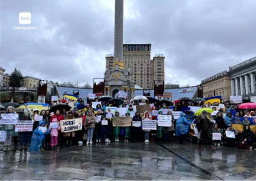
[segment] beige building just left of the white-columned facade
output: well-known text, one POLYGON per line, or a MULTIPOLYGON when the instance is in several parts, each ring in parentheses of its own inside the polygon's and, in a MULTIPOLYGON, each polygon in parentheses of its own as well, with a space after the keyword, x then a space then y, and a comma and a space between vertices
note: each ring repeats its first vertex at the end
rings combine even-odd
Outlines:
POLYGON ((211 96, 222 96, 223 101, 227 101, 231 96, 230 74, 223 71, 201 81, 205 98, 211 96))

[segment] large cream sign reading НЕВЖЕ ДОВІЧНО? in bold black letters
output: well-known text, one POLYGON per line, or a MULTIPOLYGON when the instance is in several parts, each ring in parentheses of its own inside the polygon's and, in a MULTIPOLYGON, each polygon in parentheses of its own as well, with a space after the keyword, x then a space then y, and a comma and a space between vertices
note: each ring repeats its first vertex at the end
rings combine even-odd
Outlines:
POLYGON ((69 133, 72 131, 79 131, 83 127, 82 118, 65 119, 60 121, 61 133, 69 133))

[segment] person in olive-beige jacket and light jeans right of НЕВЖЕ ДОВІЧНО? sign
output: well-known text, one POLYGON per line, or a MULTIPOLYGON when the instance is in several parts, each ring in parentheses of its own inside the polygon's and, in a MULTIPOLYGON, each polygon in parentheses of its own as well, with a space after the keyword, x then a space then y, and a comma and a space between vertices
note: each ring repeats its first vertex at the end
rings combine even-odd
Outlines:
POLYGON ((92 136, 93 136, 93 129, 95 128, 95 116, 92 110, 88 110, 86 118, 85 118, 85 123, 88 126, 86 126, 87 129, 87 142, 86 144, 92 144, 92 136))

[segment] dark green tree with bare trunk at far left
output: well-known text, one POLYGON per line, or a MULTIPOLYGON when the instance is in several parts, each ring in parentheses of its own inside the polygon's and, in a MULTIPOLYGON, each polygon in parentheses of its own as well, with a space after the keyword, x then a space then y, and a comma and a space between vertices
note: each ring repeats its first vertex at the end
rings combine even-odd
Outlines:
POLYGON ((20 82, 23 79, 22 73, 17 70, 16 68, 10 75, 10 87, 12 87, 12 100, 14 99, 15 95, 15 87, 21 87, 20 82))

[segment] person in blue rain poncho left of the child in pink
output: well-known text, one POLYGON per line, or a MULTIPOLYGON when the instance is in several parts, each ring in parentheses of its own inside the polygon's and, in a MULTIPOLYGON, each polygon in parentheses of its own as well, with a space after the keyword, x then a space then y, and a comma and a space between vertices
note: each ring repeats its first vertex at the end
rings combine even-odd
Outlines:
POLYGON ((39 129, 39 127, 45 127, 45 122, 40 120, 39 126, 36 127, 36 129, 33 131, 33 134, 31 136, 31 143, 29 147, 29 151, 38 151, 42 150, 44 151, 43 145, 45 140, 45 134, 49 134, 49 129, 46 129, 45 131, 42 131, 39 129))

